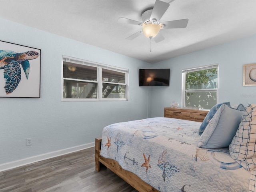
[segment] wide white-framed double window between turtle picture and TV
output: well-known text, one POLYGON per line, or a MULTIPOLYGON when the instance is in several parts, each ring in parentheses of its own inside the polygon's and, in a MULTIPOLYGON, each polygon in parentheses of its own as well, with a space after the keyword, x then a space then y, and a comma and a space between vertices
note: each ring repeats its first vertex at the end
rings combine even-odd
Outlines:
POLYGON ((63 56, 62 101, 127 100, 128 69, 63 56))

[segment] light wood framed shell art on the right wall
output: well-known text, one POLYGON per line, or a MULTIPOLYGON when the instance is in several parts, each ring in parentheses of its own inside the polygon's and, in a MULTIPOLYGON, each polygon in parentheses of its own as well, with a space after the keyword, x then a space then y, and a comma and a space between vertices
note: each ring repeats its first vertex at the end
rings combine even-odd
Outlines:
POLYGON ((244 65, 243 86, 256 86, 256 63, 244 65))

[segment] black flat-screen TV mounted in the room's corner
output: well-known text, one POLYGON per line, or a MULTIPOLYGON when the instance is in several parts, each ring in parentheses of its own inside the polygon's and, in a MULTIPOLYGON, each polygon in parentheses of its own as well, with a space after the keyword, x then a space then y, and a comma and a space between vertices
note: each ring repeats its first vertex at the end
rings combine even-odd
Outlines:
POLYGON ((140 69, 139 86, 169 86, 170 69, 140 69))

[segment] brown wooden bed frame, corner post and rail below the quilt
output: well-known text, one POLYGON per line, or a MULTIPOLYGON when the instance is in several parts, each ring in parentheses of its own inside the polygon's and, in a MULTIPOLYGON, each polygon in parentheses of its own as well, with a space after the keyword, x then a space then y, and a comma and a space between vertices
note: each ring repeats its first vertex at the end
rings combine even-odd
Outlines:
POLYGON ((122 169, 122 167, 118 164, 117 161, 104 158, 100 155, 101 148, 101 138, 95 138, 95 169, 96 171, 100 171, 100 167, 106 166, 106 168, 110 169, 112 172, 117 174, 120 178, 130 184, 139 192, 160 192, 155 189, 151 185, 147 184, 143 180, 141 180, 136 174, 122 169))

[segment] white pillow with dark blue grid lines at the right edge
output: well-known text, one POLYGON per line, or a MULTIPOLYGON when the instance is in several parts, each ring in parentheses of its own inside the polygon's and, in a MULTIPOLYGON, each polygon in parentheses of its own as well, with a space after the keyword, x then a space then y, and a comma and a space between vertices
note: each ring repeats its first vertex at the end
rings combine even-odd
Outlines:
POLYGON ((229 145, 231 157, 246 170, 256 167, 256 104, 249 104, 229 145))

